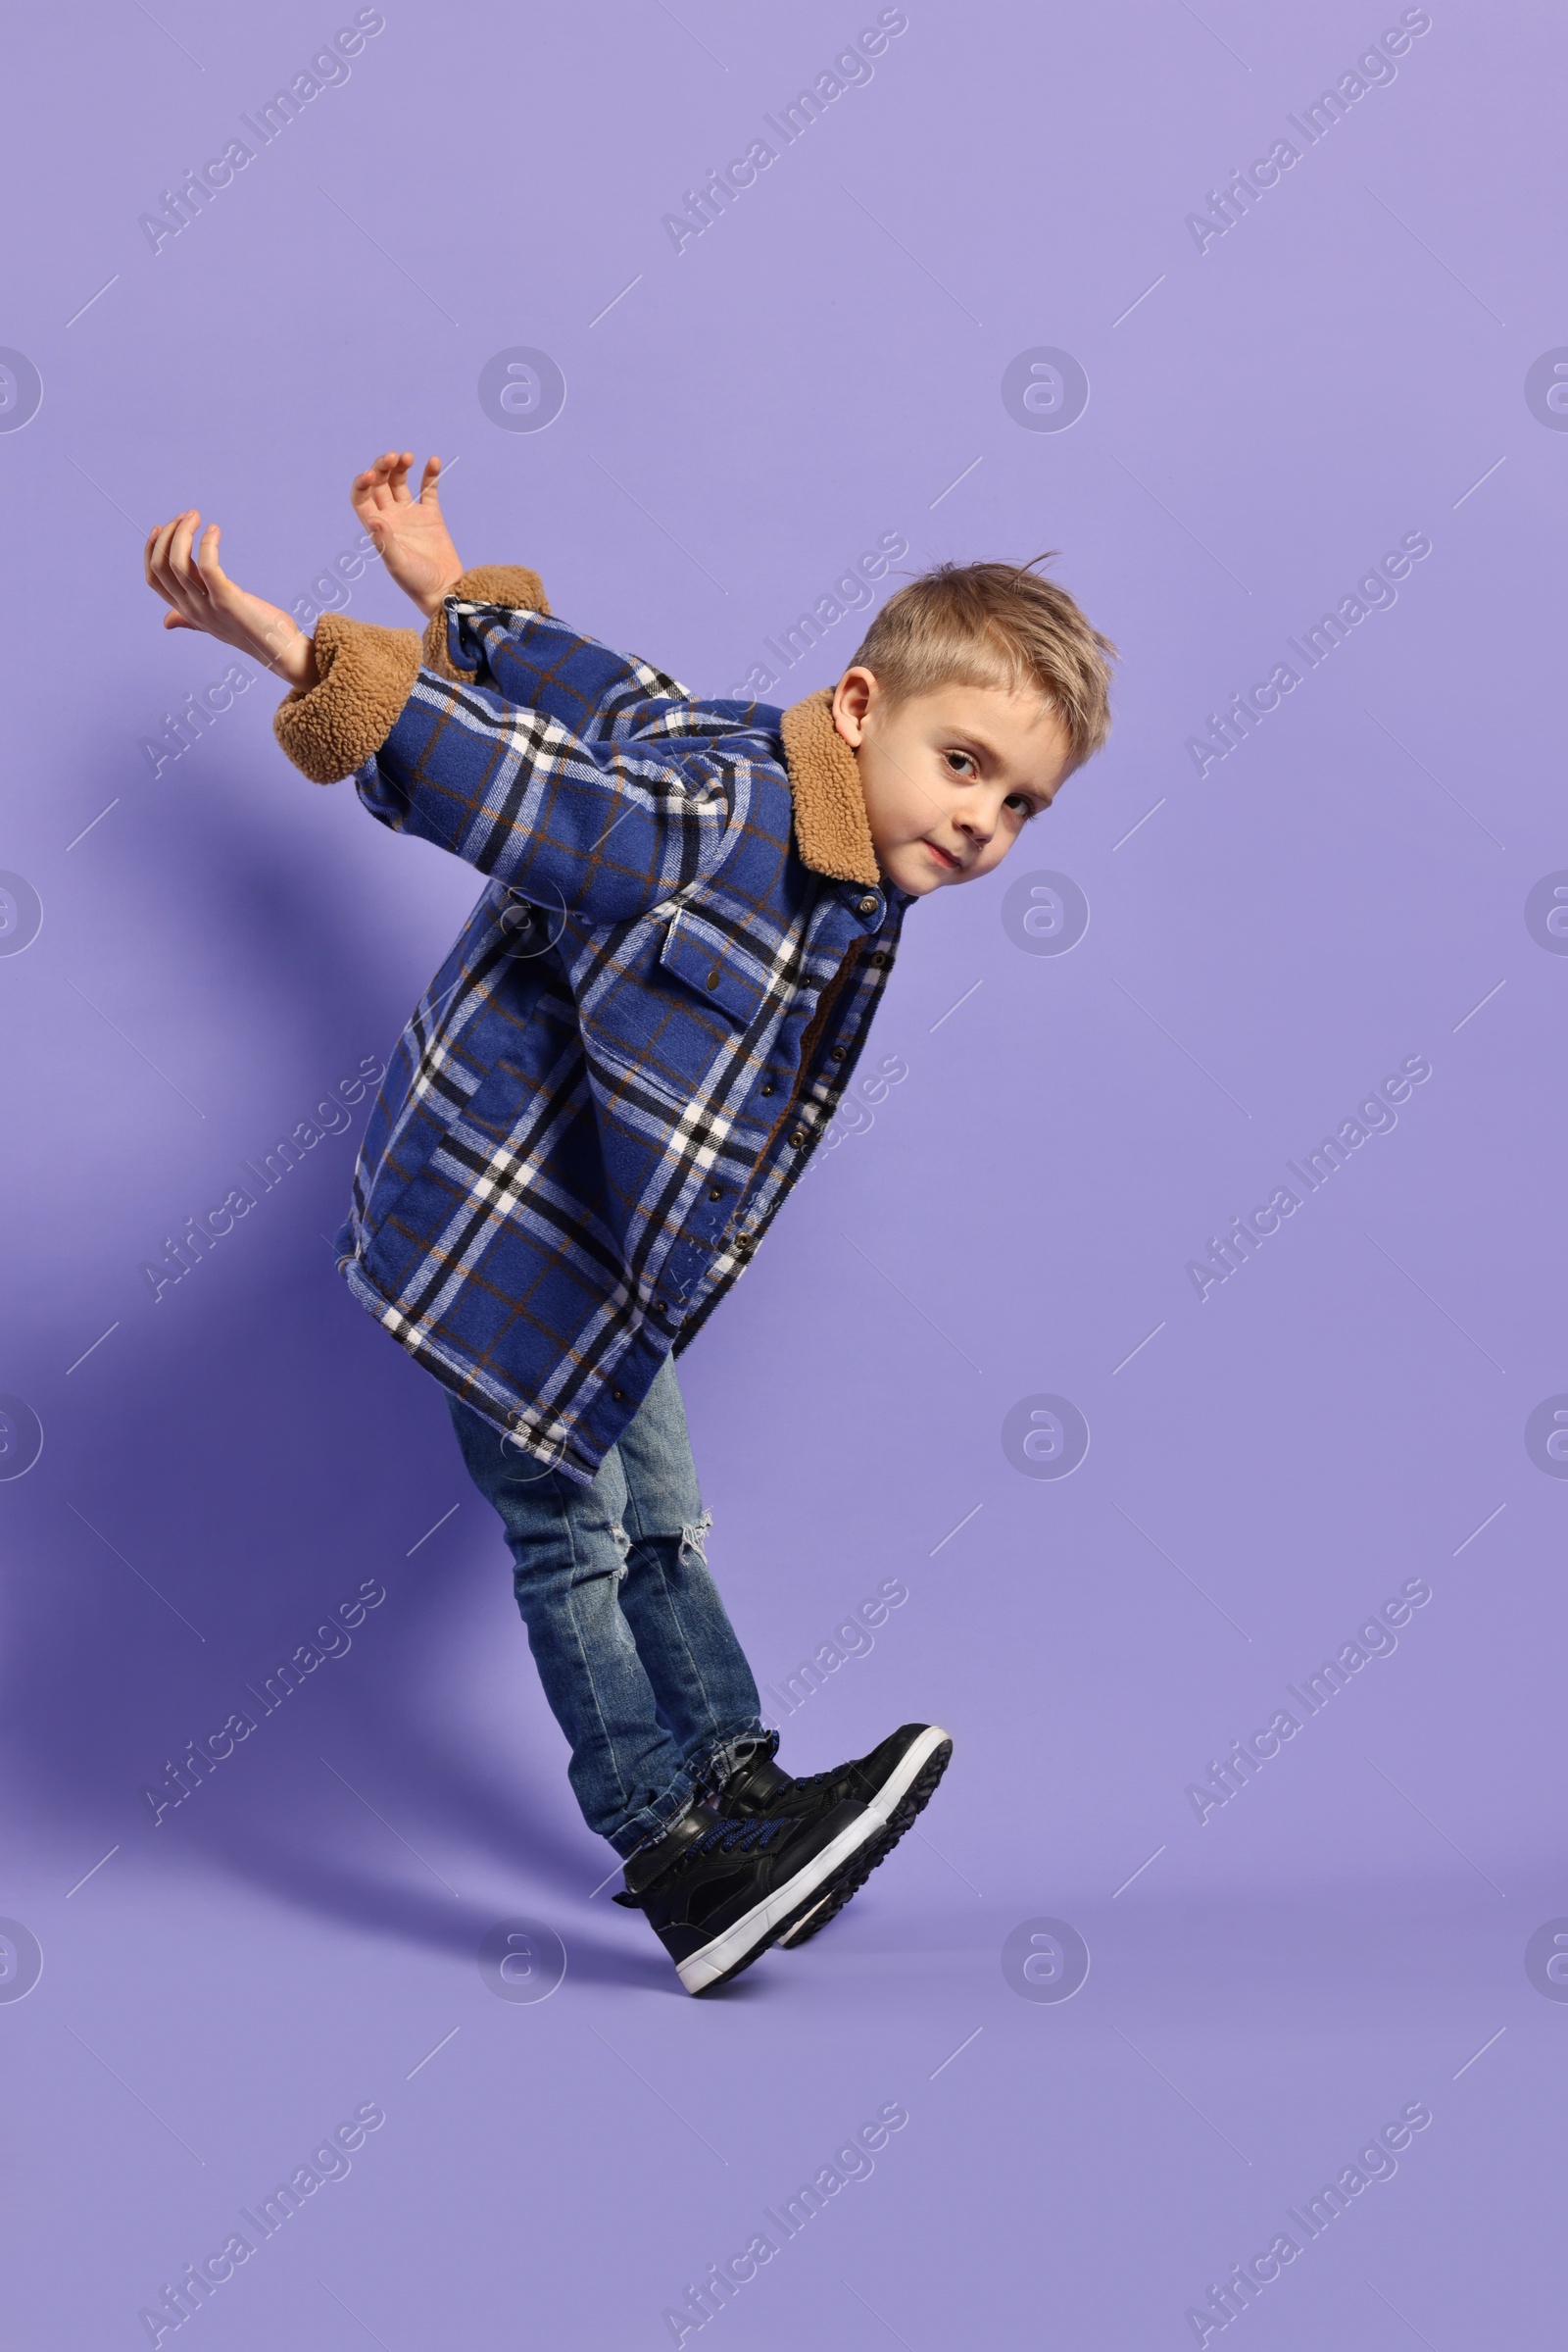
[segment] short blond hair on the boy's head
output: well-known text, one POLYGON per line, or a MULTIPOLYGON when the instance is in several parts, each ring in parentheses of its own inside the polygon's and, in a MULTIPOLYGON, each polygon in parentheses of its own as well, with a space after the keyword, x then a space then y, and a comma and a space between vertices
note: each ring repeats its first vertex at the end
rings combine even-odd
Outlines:
POLYGON ((1034 564, 938 564, 898 588, 867 628, 851 668, 867 668, 903 703, 952 680, 966 687, 1032 687, 1051 703, 1072 746, 1072 767, 1110 736, 1110 663, 1117 647, 1034 564))

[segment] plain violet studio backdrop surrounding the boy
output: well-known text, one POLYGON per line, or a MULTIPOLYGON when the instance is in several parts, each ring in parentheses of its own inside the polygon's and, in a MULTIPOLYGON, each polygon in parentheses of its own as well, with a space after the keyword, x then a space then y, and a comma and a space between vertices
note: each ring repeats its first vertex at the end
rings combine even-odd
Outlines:
MULTIPOLYGON (((1568 863, 1568 440, 1523 376, 1568 339, 1561 16, 1436 0, 1199 256, 1185 214, 1399 9, 910 0, 677 256, 661 216, 875 9, 388 0, 153 256, 139 214, 350 14, 5 33, 0 341, 45 381, 0 435, 0 866, 45 908, 0 960, 0 1388, 45 1428, 0 1484, 0 1910, 45 1952, 0 2004, 5 2352, 146 2343, 162 2281, 362 2100, 386 2126, 190 2321, 209 2352, 670 2343, 684 2284, 889 2100, 875 2176, 703 2340, 1192 2343, 1208 2281, 1425 2100, 1399 2176, 1237 2326, 1556 2343, 1568 2011, 1523 1947, 1568 1912, 1568 1489, 1523 1423, 1568 1388, 1568 964, 1523 901, 1568 863), (517 343, 567 376, 543 433, 475 395, 517 343), (1067 433, 1001 405, 1032 346, 1088 372, 1067 433), (287 604, 388 442, 456 459, 465 560, 536 564, 698 691, 882 532, 905 569, 1060 548, 1124 652, 1112 748, 1011 861, 1070 873, 1088 934, 1020 953, 1013 870, 912 913, 872 1051, 910 1077, 682 1367, 764 1682, 910 1590, 785 1764, 907 1717, 957 1738, 926 1839, 722 2002, 590 1900, 609 1856, 498 1529, 334 1279, 362 1108, 158 1305, 139 1272, 386 1056, 477 891, 303 783, 266 682, 158 779, 139 750, 228 663, 160 633, 146 529, 200 503, 287 604), (1418 529, 1396 607, 1199 781, 1204 715, 1418 529), (1408 1054, 1434 1075, 1396 1131, 1199 1303, 1206 1235, 1408 1054), (1070 1479, 1001 1451, 1032 1392, 1088 1418, 1070 1479), (1410 1576, 1399 1651, 1199 1828, 1187 1783, 1410 1576), (362 1578, 388 1599, 350 1656, 153 1828, 141 1785, 362 1578), (567 1945, 543 2004, 475 1964, 515 1915, 567 1945), (1093 1955, 1065 2004, 1001 1973, 1039 1915, 1093 1955)), ((411 616, 374 572, 348 609, 411 616)))

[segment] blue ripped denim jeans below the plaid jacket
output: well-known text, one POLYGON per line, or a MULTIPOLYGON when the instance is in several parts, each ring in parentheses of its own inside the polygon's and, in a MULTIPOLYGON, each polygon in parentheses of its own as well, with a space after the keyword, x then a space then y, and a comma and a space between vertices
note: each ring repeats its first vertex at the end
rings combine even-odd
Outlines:
POLYGON ((447 1390, 468 1472, 512 1548, 538 1679, 590 1830, 623 1858, 778 1733, 708 1573, 710 1517, 665 1357, 592 1486, 545 1470, 447 1390))

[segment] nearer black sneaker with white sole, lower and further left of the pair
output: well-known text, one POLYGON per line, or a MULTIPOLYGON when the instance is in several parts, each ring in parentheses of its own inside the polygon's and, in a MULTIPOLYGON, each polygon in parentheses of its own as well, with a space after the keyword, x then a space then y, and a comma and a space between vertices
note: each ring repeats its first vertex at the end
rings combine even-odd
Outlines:
POLYGON ((691 1811, 625 1865, 616 1903, 642 1910, 686 1992, 750 1969, 884 1835, 853 1797, 778 1818, 691 1811))

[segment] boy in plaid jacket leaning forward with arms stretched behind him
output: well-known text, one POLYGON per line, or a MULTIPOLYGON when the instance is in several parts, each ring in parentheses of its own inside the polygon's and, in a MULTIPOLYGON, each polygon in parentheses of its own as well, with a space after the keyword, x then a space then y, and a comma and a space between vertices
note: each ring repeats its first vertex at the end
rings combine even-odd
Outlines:
POLYGON ((931 1797, 905 1724, 790 1778, 708 1573, 672 1357, 745 1268, 856 1068, 905 910, 1001 863, 1105 741, 1107 656, 1013 564, 900 588, 835 689, 693 701, 465 572, 388 452, 353 503, 425 614, 228 581, 195 513, 148 539, 172 612, 289 687, 277 741, 489 880, 388 1068, 339 1270, 447 1388, 501 1512, 571 1788, 689 1992, 802 1943, 931 1797))

